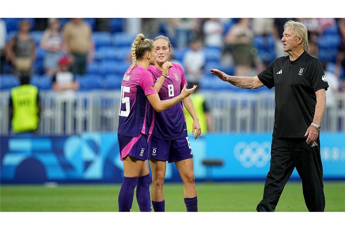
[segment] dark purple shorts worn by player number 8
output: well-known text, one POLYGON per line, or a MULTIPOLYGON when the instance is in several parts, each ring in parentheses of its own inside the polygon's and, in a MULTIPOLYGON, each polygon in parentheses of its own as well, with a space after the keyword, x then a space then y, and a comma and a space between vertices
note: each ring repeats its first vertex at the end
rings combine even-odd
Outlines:
POLYGON ((147 148, 149 158, 169 161, 169 163, 193 157, 188 137, 177 140, 162 140, 149 135, 147 148))

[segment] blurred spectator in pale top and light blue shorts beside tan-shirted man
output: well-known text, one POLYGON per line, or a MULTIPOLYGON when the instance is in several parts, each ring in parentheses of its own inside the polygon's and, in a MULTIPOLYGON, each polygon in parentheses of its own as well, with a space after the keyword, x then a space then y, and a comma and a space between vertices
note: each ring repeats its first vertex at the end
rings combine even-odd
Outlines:
POLYGON ((60 21, 57 18, 48 19, 49 28, 43 33, 40 47, 46 50, 43 68, 48 76, 53 76, 58 71, 58 62, 62 52, 62 34, 60 21))

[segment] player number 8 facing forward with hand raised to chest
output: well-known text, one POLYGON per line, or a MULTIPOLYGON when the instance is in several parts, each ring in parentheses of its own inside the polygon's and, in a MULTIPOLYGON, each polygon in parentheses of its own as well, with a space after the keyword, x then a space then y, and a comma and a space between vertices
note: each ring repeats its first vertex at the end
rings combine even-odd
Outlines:
MULTIPOLYGON (((148 70, 153 74, 155 80, 164 83, 160 88, 159 98, 166 100, 176 98, 182 93, 186 84, 184 72, 178 64, 170 63, 169 55, 171 45, 169 38, 158 36, 154 39, 156 44, 157 63, 150 66, 148 70), (163 67, 168 65, 168 75, 162 73, 163 67)), ((193 118, 192 134, 196 129, 195 139, 200 135, 201 128, 196 115, 193 102, 190 97, 183 99, 185 108, 193 118)), ((153 105, 152 105, 153 106, 153 105)), ((150 113, 152 109, 148 110, 150 113)), ((188 140, 186 119, 182 103, 177 103, 171 108, 160 113, 153 112, 149 128, 148 150, 152 170, 152 205, 155 212, 165 211, 165 200, 163 195, 163 184, 166 172, 166 161, 174 161, 183 181, 184 200, 187 212, 198 211, 198 199, 195 188, 193 171, 193 152, 188 140)))

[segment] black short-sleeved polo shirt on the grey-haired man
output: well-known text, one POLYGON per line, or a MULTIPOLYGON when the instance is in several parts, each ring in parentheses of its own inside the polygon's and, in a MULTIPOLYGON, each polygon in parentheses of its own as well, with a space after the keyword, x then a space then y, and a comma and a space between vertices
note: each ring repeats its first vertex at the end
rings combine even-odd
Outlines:
POLYGON ((304 137, 313 122, 316 95, 328 88, 322 64, 304 51, 295 61, 289 56, 274 60, 258 74, 269 89, 275 87, 273 137, 304 137))

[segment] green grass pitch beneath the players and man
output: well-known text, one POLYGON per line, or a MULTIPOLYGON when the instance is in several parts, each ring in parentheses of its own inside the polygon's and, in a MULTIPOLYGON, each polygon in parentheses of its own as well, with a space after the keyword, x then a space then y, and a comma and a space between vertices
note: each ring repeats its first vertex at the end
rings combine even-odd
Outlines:
MULTIPOLYGON (((2 212, 116 212, 121 184, 83 184, 45 187, 1 185, 2 212)), ((264 182, 196 183, 198 210, 205 212, 250 212, 262 199, 264 182)), ((345 181, 324 182, 325 211, 345 211, 345 181)), ((165 210, 185 212, 182 183, 164 185, 165 210)), ((134 195, 131 211, 139 211, 134 195)), ((153 209, 152 209, 153 211, 153 209)), ((276 211, 308 211, 301 182, 288 182, 276 211)))

